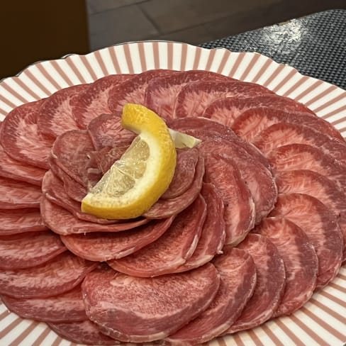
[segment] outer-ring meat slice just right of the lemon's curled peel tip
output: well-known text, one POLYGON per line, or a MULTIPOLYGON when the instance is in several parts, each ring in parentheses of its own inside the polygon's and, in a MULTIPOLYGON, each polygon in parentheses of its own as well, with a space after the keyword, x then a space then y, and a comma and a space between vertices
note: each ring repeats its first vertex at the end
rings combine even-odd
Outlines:
POLYGON ((182 87, 187 83, 201 80, 230 81, 230 77, 215 72, 191 70, 178 72, 172 76, 153 78, 147 84, 145 91, 145 105, 162 118, 172 118, 174 113, 174 101, 182 87))

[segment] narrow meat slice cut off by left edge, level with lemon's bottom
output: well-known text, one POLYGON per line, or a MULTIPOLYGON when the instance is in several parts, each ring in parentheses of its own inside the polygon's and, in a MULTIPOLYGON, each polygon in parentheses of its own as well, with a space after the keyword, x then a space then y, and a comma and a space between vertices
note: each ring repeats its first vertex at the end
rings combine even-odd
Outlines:
POLYGON ((47 230, 39 209, 0 210, 0 235, 47 230))

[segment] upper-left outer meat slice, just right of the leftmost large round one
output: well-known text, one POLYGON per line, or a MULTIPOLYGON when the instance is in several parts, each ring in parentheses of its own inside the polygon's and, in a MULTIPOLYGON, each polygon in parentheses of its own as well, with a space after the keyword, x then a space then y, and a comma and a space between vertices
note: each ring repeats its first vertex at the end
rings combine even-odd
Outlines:
POLYGON ((57 138, 78 125, 72 115, 71 101, 88 88, 88 84, 68 86, 45 99, 38 111, 38 131, 43 135, 57 138))

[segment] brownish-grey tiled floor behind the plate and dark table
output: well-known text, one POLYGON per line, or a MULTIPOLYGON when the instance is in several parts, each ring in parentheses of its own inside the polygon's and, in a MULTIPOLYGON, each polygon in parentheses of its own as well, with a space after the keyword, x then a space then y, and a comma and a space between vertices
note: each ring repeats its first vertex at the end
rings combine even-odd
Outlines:
POLYGON ((134 40, 198 45, 308 13, 346 9, 346 0, 86 0, 90 49, 134 40))

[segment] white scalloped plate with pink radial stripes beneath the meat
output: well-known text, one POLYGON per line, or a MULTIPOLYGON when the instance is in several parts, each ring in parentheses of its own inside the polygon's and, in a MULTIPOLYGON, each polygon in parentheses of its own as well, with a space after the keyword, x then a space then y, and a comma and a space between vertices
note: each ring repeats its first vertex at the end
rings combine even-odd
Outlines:
MULTIPOLYGON (((252 52, 203 49, 184 43, 140 42, 116 45, 88 55, 38 62, 0 82, 0 120, 11 109, 49 96, 66 86, 93 82, 107 74, 147 69, 206 69, 267 86, 306 104, 346 137, 346 91, 299 74, 252 52)), ((209 345, 333 345, 346 342, 346 268, 293 316, 277 318, 247 332, 220 337, 209 345)), ((72 345, 44 323, 23 320, 0 303, 0 345, 72 345)), ((75 344, 73 344, 75 345, 75 344)))

